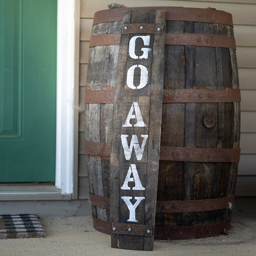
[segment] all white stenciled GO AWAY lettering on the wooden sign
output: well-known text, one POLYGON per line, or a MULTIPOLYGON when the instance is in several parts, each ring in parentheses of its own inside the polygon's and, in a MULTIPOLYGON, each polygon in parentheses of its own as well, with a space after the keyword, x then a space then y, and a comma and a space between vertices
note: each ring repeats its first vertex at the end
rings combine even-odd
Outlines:
MULTIPOLYGON (((128 48, 128 54, 130 58, 132 59, 148 59, 148 52, 151 50, 149 47, 142 47, 141 51, 143 54, 141 56, 137 56, 135 54, 135 46, 136 46, 136 40, 138 38, 141 38, 143 40, 144 46, 150 45, 150 35, 136 35, 130 39, 129 42, 129 48, 128 48)), ((144 88, 148 83, 148 69, 144 65, 136 64, 132 65, 128 71, 126 76, 126 84, 131 89, 142 89, 144 88), (139 85, 134 85, 134 71, 136 68, 140 69, 140 78, 139 78, 139 85)), ((141 110, 139 108, 139 104, 137 101, 134 101, 132 103, 132 106, 130 108, 130 111, 126 117, 126 121, 122 125, 122 127, 146 127, 147 125, 143 121, 141 110), (136 119, 136 124, 132 125, 130 123, 131 119, 136 119)), ((128 134, 121 134, 121 142, 122 147, 124 150, 124 157, 125 160, 130 160, 132 156, 132 150, 134 148, 136 160, 140 161, 143 157, 143 152, 145 149, 145 145, 148 139, 147 134, 141 135, 143 137, 143 142, 141 144, 141 147, 139 146, 139 141, 137 135, 133 134, 132 139, 130 142, 130 146, 128 146, 127 137, 129 137, 128 134)), ((145 187, 142 186, 141 180, 139 178, 139 174, 137 171, 137 167, 134 163, 130 163, 129 169, 126 174, 126 178, 124 180, 124 183, 122 184, 121 188, 122 190, 145 190, 145 187), (134 187, 129 187, 128 182, 134 182, 134 187)), ((145 199, 145 197, 121 197, 122 200, 124 200, 128 210, 129 210, 129 219, 127 221, 129 222, 138 222, 136 219, 136 213, 135 210, 137 206, 140 204, 140 202, 145 199), (136 202, 132 204, 130 201, 132 198, 135 198, 136 202)))

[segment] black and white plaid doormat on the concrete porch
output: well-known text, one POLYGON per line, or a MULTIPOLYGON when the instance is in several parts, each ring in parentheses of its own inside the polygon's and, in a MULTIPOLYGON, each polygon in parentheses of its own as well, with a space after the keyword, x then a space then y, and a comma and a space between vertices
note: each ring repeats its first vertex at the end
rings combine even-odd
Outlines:
POLYGON ((45 237, 46 233, 34 214, 0 215, 0 239, 45 237))

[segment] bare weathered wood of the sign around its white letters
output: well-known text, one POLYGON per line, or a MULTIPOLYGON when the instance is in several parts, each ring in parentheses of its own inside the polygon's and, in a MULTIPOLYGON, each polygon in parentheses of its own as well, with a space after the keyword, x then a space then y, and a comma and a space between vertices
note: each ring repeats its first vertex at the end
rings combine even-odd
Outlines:
MULTIPOLYGON (((126 15, 130 13, 131 23, 165 23, 165 12, 155 10, 133 10, 124 13, 124 19, 126 15)), ((123 24, 128 24, 127 20, 123 20, 123 24)), ((135 217, 136 224, 150 225, 153 227, 152 236, 128 236, 128 235, 111 235, 113 245, 122 249, 135 249, 135 250, 152 250, 154 240, 154 220, 156 212, 156 191, 157 191, 157 177, 158 177, 158 162, 160 154, 160 129, 161 129, 161 107, 162 107, 162 95, 163 95, 163 59, 164 59, 164 44, 165 35, 150 35, 150 43, 148 45, 151 50, 148 52, 148 58, 146 59, 132 59, 128 57, 128 39, 139 34, 124 34, 121 35, 120 47, 119 47, 119 60, 115 87, 115 96, 113 104, 113 127, 112 127, 112 139, 111 139, 111 183, 112 180, 120 178, 121 181, 125 180, 129 166, 136 164, 137 171, 139 173, 139 179, 145 186, 145 191, 124 191, 120 190, 121 196, 136 196, 143 197, 145 200, 141 201, 136 208, 135 217), (126 59, 127 58, 127 59, 126 59), (145 87, 137 90, 131 90, 126 85, 126 74, 128 69, 135 64, 141 64, 147 67, 148 70, 148 82, 145 87), (126 67, 126 68, 125 68, 126 67), (152 75, 151 75, 152 74, 152 75), (138 102, 143 122, 146 127, 122 127, 129 109, 133 102, 138 102), (143 156, 138 161, 134 154, 132 154, 129 161, 124 159, 123 146, 121 145, 121 134, 128 134, 128 137, 136 134, 139 138, 140 134, 146 134, 148 136, 147 144, 143 150, 143 156), (117 242, 118 241, 118 242, 117 242)), ((137 49, 141 49, 144 45, 142 41, 136 42, 137 49)), ((136 48, 135 48, 136 52, 136 48)), ((128 76, 128 75, 127 75, 128 76)), ((134 72, 134 84, 139 85, 141 80, 141 74, 134 72)), ((128 82, 127 82, 128 83, 128 82)), ((143 136, 144 136, 143 135, 143 136)), ((142 135, 141 135, 142 136, 142 135)), ((129 139, 129 138, 128 138, 129 139)), ((129 139, 130 141, 130 139, 129 139)), ((139 145, 142 144, 141 138, 139 138, 139 145)), ((115 189, 115 188, 113 188, 115 189)), ((116 190, 115 190, 116 191, 116 190)), ((112 193, 110 194, 110 205, 112 200, 112 193)), ((118 193, 118 194, 119 194, 118 193)), ((113 195, 115 197, 115 195, 113 195)), ((123 200, 120 200, 119 212, 113 212, 111 210, 111 221, 120 223, 127 223, 129 217, 129 210, 124 204, 123 200)), ((134 204, 133 200, 133 204, 134 204)), ((116 211, 116 210, 115 210, 116 211)))

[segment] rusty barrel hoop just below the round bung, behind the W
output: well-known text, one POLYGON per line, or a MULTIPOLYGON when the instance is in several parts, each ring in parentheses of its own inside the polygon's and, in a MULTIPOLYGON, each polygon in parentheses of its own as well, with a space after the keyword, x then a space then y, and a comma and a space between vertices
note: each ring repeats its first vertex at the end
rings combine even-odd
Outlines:
MULTIPOLYGON (((85 154, 110 156, 110 143, 85 141, 85 154)), ((184 162, 239 162, 239 148, 160 147, 160 160, 184 162)))

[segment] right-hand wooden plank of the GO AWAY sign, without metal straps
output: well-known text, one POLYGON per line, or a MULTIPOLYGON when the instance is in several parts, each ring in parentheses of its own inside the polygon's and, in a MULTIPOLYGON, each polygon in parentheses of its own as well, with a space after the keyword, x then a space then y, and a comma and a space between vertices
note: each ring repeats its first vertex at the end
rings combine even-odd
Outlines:
MULTIPOLYGON (((165 24, 165 11, 156 10, 156 24, 165 24)), ((149 111, 148 132, 148 161, 147 161, 147 189, 145 193, 145 225, 152 226, 154 234, 156 216, 156 197, 158 187, 158 169, 161 138, 161 116, 163 102, 164 56, 165 56, 165 27, 162 35, 154 35, 152 79, 149 111), (156 94, 158 92, 158 94, 156 94)), ((145 250, 152 250, 151 237, 144 237, 145 250), (146 241, 149 240, 149 241, 146 241)))

